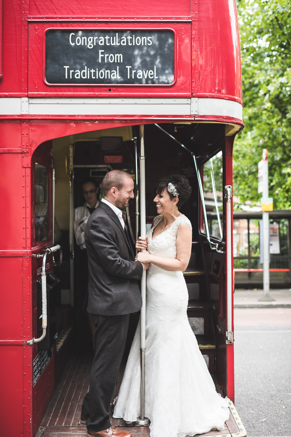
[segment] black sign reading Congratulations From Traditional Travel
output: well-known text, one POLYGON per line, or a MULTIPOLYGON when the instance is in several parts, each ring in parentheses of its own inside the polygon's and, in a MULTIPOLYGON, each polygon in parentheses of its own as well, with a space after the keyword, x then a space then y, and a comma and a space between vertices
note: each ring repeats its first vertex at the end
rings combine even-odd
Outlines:
POLYGON ((171 85, 174 32, 49 30, 45 80, 49 84, 171 85))

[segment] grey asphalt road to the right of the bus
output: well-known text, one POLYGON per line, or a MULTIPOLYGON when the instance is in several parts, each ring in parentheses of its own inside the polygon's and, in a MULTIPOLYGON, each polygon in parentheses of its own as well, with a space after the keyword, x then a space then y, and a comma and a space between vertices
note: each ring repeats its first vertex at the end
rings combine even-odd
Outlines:
POLYGON ((235 309, 235 406, 248 436, 291 436, 291 309, 235 309))

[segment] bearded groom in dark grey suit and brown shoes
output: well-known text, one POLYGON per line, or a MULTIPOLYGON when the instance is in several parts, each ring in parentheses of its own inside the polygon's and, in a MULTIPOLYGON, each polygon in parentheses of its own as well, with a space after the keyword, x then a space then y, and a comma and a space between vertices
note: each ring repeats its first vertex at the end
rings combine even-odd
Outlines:
POLYGON ((88 436, 131 437, 110 425, 113 395, 127 337, 131 312, 142 301, 137 280, 149 264, 134 261, 121 209, 134 198, 134 181, 122 170, 112 170, 102 181, 104 199, 90 215, 85 229, 89 267, 87 311, 96 326, 95 357, 81 422, 88 436), (86 421, 86 422, 85 422, 86 421))

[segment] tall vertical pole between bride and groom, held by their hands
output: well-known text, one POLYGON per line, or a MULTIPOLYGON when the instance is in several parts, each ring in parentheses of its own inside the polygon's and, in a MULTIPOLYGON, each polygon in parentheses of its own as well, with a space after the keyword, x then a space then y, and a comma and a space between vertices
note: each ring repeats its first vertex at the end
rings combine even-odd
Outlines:
MULTIPOLYGON (((144 168, 144 125, 140 125, 140 236, 146 236, 145 218, 145 168, 144 168)), ((142 250, 142 252, 144 252, 142 250)), ((146 271, 141 278, 141 298, 143 305, 140 310, 140 416, 138 425, 146 425, 150 421, 145 417, 145 312, 146 312, 146 271)))

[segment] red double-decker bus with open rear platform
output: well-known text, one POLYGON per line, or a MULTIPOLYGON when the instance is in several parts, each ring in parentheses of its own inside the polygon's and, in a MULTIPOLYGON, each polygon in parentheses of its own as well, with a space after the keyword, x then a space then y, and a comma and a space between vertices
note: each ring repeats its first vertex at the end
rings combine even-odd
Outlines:
MULTIPOLYGON (((193 228, 188 318, 217 391, 234 402, 232 150, 243 128, 236 2, 3 0, 0 14, 1 436, 85 432, 92 354, 74 208, 84 202, 82 180, 99 187, 108 171, 127 171, 135 241, 141 139, 148 225, 159 177, 183 174, 192 185, 181 208, 193 228)), ((233 403, 230 411, 217 435, 245 436, 233 403)))

